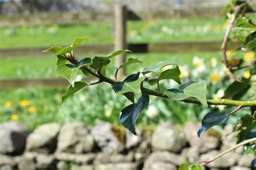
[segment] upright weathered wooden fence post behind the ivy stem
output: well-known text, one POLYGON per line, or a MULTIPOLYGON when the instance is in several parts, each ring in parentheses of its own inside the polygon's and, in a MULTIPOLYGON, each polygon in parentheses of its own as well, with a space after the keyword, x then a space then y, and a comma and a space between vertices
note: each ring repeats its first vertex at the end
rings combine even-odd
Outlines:
MULTIPOLYGON (((114 50, 126 49, 126 6, 120 3, 114 5, 114 50)), ((125 54, 118 55, 115 60, 115 66, 125 62, 125 54)), ((118 77, 124 77, 125 68, 118 72, 118 77)))

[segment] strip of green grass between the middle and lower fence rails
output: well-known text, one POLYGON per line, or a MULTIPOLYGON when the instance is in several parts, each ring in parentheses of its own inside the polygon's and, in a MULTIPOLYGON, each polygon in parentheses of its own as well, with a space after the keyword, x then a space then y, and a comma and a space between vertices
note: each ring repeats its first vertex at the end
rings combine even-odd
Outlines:
MULTIPOLYGON (((129 54, 127 58, 138 58, 143 61, 143 64, 134 64, 127 67, 127 73, 131 74, 137 70, 150 65, 153 62, 164 60, 177 61, 179 63, 192 66, 194 56, 203 58, 210 62, 210 59, 215 57, 221 59, 220 52, 186 52, 186 53, 145 53, 145 54, 129 54)), ((6 58, 1 59, 0 79, 8 78, 31 78, 31 77, 56 77, 54 70, 56 64, 54 56, 46 58, 6 58)), ((113 60, 113 59, 112 59, 113 60)), ((114 72, 112 68, 114 62, 111 62, 108 67, 108 72, 114 72)))

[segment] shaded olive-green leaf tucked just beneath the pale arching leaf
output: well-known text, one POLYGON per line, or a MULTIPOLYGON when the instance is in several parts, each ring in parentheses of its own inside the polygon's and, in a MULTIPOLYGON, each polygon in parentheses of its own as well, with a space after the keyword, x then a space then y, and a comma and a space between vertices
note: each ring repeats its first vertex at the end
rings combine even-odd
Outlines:
POLYGON ((157 81, 165 80, 165 79, 172 79, 177 83, 181 84, 179 75, 180 75, 180 70, 179 70, 179 67, 176 66, 175 68, 165 70, 163 73, 159 75, 158 79, 149 80, 149 84, 152 86, 156 84, 157 81))

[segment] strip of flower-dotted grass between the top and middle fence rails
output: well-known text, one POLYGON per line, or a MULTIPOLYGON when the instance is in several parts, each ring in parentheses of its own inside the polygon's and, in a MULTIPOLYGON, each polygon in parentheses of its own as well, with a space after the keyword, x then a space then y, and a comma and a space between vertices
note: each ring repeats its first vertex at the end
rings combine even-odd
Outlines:
MULTIPOLYGON (((190 18, 127 22, 127 42, 221 40, 223 18, 190 18)), ((87 44, 113 44, 112 23, 40 25, 0 28, 0 48, 70 45, 75 37, 90 36, 87 44)))

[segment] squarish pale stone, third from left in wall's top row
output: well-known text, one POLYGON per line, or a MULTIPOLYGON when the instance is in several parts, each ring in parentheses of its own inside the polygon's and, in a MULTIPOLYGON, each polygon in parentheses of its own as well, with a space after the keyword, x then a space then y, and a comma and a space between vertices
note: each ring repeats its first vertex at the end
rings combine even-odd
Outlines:
POLYGON ((93 146, 93 136, 83 122, 65 124, 59 132, 58 152, 87 153, 93 146))

